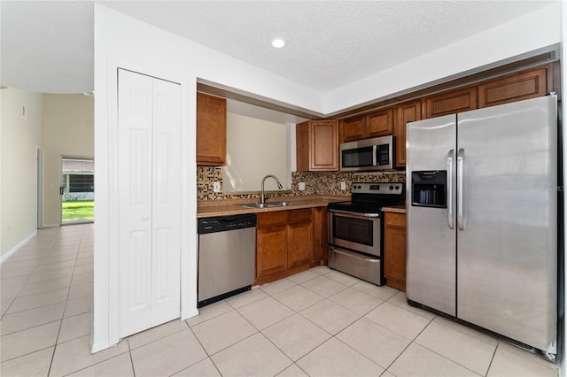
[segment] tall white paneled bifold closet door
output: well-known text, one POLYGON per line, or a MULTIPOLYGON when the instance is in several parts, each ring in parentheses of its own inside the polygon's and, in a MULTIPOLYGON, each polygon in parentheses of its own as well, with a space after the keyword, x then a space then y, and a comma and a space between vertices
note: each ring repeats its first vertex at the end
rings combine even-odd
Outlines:
POLYGON ((119 71, 120 337, 180 316, 180 88, 119 71))

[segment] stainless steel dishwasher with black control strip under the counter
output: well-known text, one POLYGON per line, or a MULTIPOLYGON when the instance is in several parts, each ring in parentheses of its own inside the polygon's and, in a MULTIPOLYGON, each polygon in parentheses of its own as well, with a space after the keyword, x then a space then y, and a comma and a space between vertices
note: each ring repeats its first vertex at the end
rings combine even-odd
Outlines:
POLYGON ((198 304, 249 290, 256 266, 256 214, 198 220, 198 304))

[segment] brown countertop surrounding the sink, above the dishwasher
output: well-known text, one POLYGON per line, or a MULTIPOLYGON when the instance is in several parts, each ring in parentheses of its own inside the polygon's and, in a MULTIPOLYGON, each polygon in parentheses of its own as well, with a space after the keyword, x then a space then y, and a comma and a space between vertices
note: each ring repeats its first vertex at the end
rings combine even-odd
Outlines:
POLYGON ((261 213, 299 210, 302 208, 324 207, 330 202, 341 202, 350 200, 350 196, 277 196, 270 197, 266 203, 270 202, 297 202, 291 206, 269 207, 269 208, 248 208, 241 204, 257 203, 259 198, 248 199, 227 199, 227 200, 206 200, 198 201, 197 218, 210 218, 214 216, 230 216, 242 213, 261 213))

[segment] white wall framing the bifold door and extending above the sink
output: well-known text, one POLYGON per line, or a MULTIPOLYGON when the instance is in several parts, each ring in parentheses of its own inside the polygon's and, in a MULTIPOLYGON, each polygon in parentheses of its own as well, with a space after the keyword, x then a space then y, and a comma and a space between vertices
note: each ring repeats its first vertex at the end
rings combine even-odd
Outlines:
POLYGON ((260 70, 195 42, 95 4, 95 291, 92 350, 118 342, 118 261, 113 232, 119 225, 113 155, 116 127, 116 69, 123 67, 182 85, 183 197, 182 318, 198 313, 197 177, 195 121, 197 81, 221 83, 237 92, 275 102, 321 109, 321 93, 260 70))

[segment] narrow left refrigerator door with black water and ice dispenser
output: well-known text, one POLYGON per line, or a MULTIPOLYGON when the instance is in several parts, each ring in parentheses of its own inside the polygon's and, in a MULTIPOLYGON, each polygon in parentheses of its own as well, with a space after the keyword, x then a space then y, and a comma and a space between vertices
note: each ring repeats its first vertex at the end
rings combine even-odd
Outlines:
MULTIPOLYGON (((455 115, 408 123, 406 185, 408 203, 408 299, 452 316, 455 312, 454 153, 455 115), (447 205, 441 208, 412 204, 423 181, 414 182, 417 171, 447 171, 447 205), (414 185, 416 183, 416 185, 414 185), (419 183, 419 184, 418 184, 419 183)), ((439 177, 443 174, 431 174, 439 177)))

